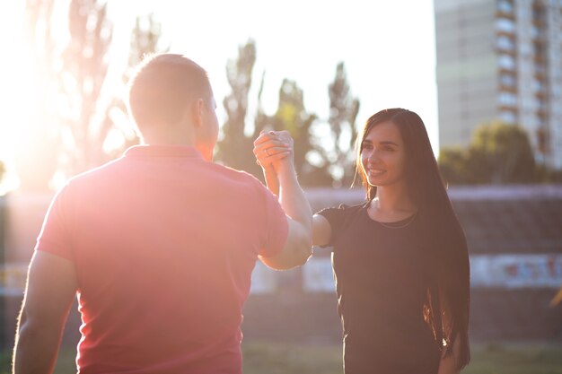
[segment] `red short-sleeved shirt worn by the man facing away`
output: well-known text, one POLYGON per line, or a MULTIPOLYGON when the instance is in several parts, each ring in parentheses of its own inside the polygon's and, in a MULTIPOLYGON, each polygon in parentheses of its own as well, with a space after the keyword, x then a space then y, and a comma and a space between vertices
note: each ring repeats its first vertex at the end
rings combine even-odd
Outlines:
POLYGON ((36 249, 75 264, 80 373, 240 374, 250 274, 286 236, 258 179, 143 145, 71 179, 36 249))

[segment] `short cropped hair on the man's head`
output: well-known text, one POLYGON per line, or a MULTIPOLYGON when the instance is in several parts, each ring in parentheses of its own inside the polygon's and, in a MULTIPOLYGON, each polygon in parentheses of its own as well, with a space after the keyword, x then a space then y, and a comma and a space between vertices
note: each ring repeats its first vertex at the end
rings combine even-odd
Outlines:
POLYGON ((128 83, 128 112, 143 130, 180 121, 186 107, 208 100, 211 85, 205 69, 187 57, 158 54, 145 57, 128 83))

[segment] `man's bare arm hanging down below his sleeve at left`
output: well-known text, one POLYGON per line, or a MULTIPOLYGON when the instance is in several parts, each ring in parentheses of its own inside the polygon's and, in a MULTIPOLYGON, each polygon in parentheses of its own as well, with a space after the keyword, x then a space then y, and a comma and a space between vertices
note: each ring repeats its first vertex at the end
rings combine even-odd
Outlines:
POLYGON ((13 374, 52 372, 76 284, 71 261, 35 251, 15 335, 13 374))

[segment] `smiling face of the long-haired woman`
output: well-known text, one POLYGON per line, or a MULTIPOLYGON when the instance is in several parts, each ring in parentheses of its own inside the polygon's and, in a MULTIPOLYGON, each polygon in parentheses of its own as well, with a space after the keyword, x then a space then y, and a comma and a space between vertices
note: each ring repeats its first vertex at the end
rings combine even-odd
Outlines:
POLYGON ((373 126, 361 149, 361 165, 369 185, 384 187, 405 181, 406 150, 400 130, 392 122, 373 126))

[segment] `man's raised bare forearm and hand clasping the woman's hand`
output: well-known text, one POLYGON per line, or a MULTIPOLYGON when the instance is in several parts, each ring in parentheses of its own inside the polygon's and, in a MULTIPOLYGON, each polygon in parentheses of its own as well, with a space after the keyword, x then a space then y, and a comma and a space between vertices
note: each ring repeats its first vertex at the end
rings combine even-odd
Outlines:
MULTIPOLYGON (((281 252, 277 256, 260 257, 260 259, 265 265, 278 270, 303 265, 312 254, 312 209, 294 171, 293 139, 288 132, 280 131, 260 135, 256 144, 258 144, 257 152, 255 151, 257 154, 262 152, 262 149, 273 147, 274 151, 269 153, 271 154, 269 157, 276 158, 276 162, 263 162, 262 167, 266 172, 268 167, 275 168, 279 203, 287 215, 289 225, 285 246, 281 252)), ((268 175, 269 178, 273 178, 271 170, 266 173, 266 177, 268 175)), ((271 187, 270 184, 271 181, 268 180, 268 187, 271 187)))

